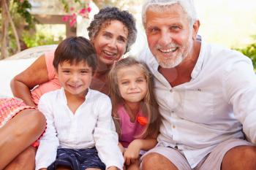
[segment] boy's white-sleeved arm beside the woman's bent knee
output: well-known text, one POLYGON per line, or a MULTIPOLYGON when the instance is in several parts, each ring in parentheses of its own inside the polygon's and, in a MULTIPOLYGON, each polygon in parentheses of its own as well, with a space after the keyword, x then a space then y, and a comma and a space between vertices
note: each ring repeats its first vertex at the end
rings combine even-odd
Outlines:
POLYGON ((40 139, 39 147, 36 155, 36 169, 46 169, 53 161, 56 160, 57 147, 59 139, 56 137, 56 128, 53 121, 53 110, 50 107, 49 96, 43 95, 38 104, 38 109, 45 115, 47 128, 42 139, 40 139))

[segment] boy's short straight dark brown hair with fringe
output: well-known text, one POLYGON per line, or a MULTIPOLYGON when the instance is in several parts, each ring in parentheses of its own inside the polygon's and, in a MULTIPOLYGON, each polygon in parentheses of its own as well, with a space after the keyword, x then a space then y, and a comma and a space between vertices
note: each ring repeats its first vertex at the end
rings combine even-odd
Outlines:
POLYGON ((85 61, 91 67, 92 72, 97 68, 97 56, 91 42, 82 36, 71 36, 64 39, 56 48, 53 59, 53 66, 58 70, 60 63, 64 61, 78 63, 85 61))

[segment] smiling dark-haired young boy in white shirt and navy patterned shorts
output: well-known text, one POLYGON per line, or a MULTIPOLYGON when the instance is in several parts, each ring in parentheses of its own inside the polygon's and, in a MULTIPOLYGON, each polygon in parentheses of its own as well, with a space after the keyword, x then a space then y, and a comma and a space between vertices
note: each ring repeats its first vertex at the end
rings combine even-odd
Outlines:
POLYGON ((89 89, 97 68, 94 47, 83 37, 67 38, 57 47, 53 66, 62 88, 39 100, 47 128, 36 169, 122 169, 110 98, 89 89))

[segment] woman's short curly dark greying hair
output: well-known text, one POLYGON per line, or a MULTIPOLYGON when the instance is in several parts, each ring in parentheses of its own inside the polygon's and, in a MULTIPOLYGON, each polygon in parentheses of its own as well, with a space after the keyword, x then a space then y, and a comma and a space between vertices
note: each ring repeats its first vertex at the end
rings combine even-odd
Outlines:
POLYGON ((128 29, 127 48, 125 51, 125 53, 127 53, 137 36, 135 18, 127 11, 121 11, 117 7, 105 7, 100 9, 99 12, 94 15, 94 20, 91 21, 90 26, 87 28, 89 37, 93 40, 99 33, 100 28, 105 26, 105 24, 109 24, 111 20, 120 21, 128 29))

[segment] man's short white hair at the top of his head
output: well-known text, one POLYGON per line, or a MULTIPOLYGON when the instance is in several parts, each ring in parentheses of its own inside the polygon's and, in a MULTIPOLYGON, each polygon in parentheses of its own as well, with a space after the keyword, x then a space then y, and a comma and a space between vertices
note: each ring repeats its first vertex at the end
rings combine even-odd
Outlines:
POLYGON ((149 7, 157 11, 162 11, 162 9, 166 9, 173 4, 179 4, 182 7, 184 12, 187 13, 187 19, 189 20, 190 26, 193 26, 197 20, 197 13, 193 0, 145 0, 142 7, 142 21, 144 28, 146 28, 146 11, 149 7))

